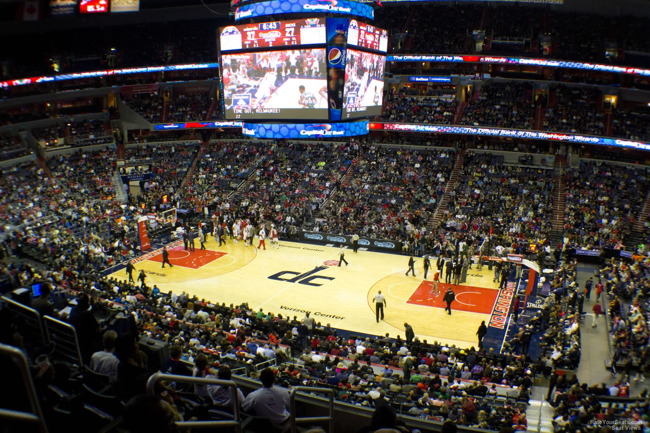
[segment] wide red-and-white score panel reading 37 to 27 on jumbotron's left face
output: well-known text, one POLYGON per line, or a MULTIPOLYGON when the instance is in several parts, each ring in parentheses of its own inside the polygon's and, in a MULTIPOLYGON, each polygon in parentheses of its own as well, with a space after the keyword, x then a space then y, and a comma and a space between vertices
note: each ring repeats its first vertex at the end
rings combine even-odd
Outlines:
POLYGON ((219 39, 221 51, 326 43, 325 19, 229 25, 221 29, 219 39))

